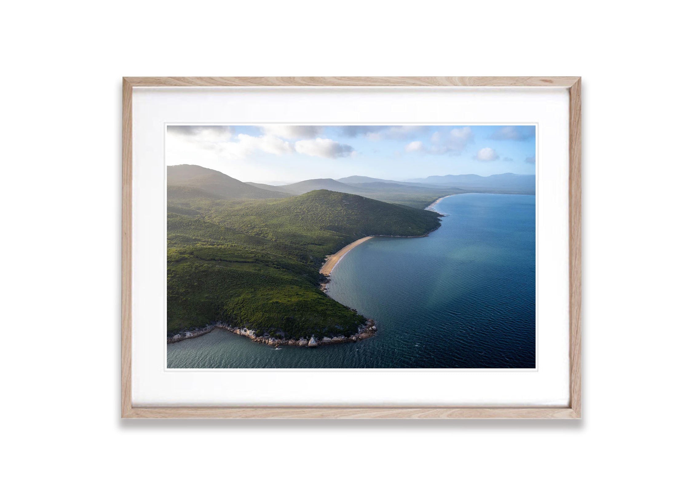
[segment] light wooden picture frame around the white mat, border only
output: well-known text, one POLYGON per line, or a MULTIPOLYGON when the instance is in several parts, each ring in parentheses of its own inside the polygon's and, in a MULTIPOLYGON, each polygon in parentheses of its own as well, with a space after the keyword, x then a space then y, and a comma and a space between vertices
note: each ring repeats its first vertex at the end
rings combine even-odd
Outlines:
POLYGON ((581 79, 555 77, 124 77, 122 79, 122 418, 581 417, 581 79), (565 407, 132 406, 132 89, 134 87, 559 87, 569 91, 569 359, 565 407))

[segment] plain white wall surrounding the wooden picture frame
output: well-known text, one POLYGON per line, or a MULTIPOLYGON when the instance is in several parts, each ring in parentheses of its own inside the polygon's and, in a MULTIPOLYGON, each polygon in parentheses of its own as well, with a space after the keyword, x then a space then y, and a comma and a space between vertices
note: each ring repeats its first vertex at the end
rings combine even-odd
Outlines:
POLYGON ((8 490, 656 489, 673 466, 676 273, 658 5, 5 6, 8 490), (583 76, 581 422, 120 421, 121 77, 310 74, 583 76))

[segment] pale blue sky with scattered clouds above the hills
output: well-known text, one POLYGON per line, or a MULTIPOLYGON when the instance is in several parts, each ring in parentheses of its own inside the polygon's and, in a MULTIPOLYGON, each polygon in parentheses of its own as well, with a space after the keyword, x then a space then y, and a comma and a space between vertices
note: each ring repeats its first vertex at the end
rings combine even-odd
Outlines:
POLYGON ((166 164, 240 181, 535 174, 534 126, 170 125, 166 164))

